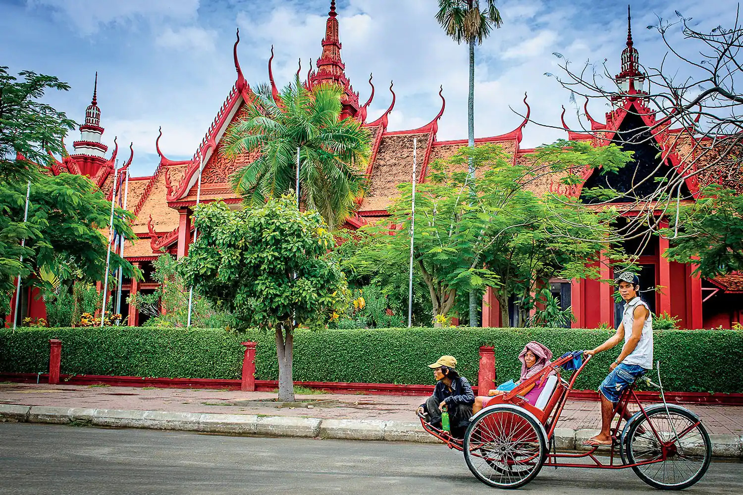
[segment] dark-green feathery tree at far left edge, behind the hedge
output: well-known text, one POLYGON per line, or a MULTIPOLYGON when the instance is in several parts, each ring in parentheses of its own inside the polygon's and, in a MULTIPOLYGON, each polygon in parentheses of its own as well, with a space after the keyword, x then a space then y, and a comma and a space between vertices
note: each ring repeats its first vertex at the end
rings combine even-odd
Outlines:
MULTIPOLYGON (((20 275, 24 285, 45 286, 39 269, 51 269, 59 259, 74 263, 85 281, 103 280, 106 272, 111 202, 87 177, 51 176, 43 165, 48 151, 64 153, 62 137, 74 122, 38 100, 46 89, 67 90, 52 76, 30 71, 18 82, 7 68, 0 68, 0 311, 7 312, 20 275), (30 183, 28 219, 23 221, 27 185, 30 183), (25 246, 22 240, 25 239, 25 246), (21 262, 21 256, 23 261, 21 262)), ((114 228, 134 239, 130 212, 117 208, 114 228)), ((111 253, 111 270, 134 268, 111 253)), ((113 280, 113 278, 111 278, 113 280)))

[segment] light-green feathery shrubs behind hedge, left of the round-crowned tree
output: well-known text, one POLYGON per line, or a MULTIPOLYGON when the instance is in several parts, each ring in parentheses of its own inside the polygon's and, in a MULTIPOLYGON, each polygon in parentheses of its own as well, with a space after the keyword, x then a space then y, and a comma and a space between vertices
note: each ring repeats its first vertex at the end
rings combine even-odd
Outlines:
MULTIPOLYGON (((149 315, 146 326, 186 327, 188 324, 189 288, 178 273, 178 262, 171 255, 162 255, 152 263, 152 279, 160 283, 151 294, 137 292, 126 301, 149 315)), ((195 292, 192 295, 191 324, 195 327, 229 326, 229 315, 195 292)))

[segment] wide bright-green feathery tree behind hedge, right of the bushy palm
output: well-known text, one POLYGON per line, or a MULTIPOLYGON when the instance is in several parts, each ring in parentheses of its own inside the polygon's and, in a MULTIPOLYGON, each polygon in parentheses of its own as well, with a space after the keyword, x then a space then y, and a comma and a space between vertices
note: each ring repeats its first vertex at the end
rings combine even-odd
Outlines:
MULTIPOLYGON (((536 290, 550 276, 598 278, 591 261, 607 247, 603 238, 616 212, 593 212, 568 197, 538 197, 528 187, 549 175, 559 183, 574 183, 574 163, 611 170, 627 160, 629 154, 616 147, 563 141, 539 148, 528 166, 513 165, 498 145, 461 148, 449 160, 433 163, 431 180, 417 186, 413 244, 416 271, 429 290, 436 324, 455 307, 457 294, 474 289, 481 295, 492 286, 506 322, 508 298, 519 296, 523 325, 536 290), (474 186, 459 171, 470 160, 482 171, 474 186)), ((391 209, 400 229, 370 228, 375 243, 360 250, 351 264, 407 262, 410 184, 400 191, 391 209)))

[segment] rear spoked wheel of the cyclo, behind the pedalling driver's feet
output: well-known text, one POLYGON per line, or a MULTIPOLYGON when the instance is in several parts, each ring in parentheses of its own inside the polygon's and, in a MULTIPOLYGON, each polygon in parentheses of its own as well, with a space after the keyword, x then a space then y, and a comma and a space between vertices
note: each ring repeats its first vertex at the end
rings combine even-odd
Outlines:
POLYGON ((643 482, 661 490, 694 485, 712 460, 712 442, 704 424, 683 407, 669 405, 666 413, 661 406, 646 413, 647 417, 641 416, 627 430, 627 460, 630 464, 658 462, 633 466, 632 470, 643 482), (659 460, 664 454, 665 460, 659 460))

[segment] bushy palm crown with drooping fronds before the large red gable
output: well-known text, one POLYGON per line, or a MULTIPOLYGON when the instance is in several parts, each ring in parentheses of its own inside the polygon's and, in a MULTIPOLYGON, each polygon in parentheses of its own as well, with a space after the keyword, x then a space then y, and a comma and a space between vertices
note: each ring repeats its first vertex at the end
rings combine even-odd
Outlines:
POLYGON ((371 154, 371 133, 356 119, 339 120, 343 87, 305 88, 296 78, 275 98, 260 85, 247 117, 224 137, 228 157, 258 152, 259 157, 232 176, 247 205, 295 191, 299 148, 299 191, 307 209, 322 215, 331 229, 357 208, 366 188, 363 171, 371 154))

